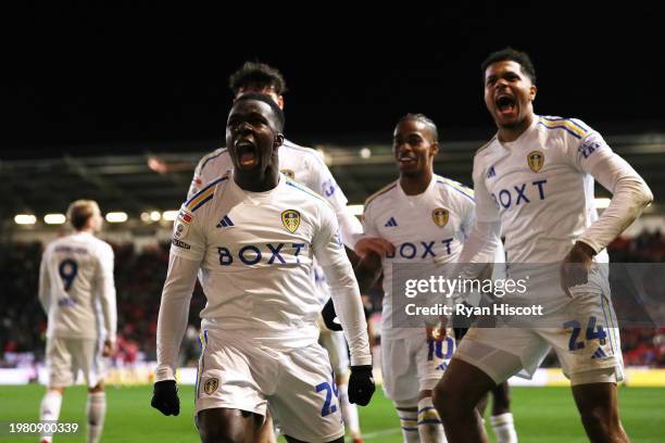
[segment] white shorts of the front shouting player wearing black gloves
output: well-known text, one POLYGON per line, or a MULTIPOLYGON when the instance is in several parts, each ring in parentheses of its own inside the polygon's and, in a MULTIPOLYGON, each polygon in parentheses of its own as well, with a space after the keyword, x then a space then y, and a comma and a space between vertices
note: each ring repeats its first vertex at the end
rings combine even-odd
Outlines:
POLYGON ((313 343, 275 351, 238 331, 203 330, 196 413, 210 408, 271 413, 281 432, 329 442, 344 434, 327 353, 313 343))

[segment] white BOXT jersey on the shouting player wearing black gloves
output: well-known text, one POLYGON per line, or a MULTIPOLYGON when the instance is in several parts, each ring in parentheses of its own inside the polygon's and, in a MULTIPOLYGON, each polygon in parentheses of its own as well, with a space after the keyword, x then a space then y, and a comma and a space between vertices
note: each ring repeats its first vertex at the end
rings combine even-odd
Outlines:
POLYGON ((183 205, 172 252, 201 262, 203 329, 247 330, 286 347, 318 337, 313 257, 323 265, 347 260, 322 197, 285 175, 271 191, 246 191, 233 172, 183 205))

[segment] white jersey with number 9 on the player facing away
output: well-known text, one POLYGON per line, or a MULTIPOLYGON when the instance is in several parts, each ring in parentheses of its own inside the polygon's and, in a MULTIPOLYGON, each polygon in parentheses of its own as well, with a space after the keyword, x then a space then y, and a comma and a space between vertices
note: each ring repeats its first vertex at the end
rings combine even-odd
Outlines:
POLYGON ((41 257, 39 300, 48 337, 115 340, 113 250, 88 232, 49 243, 41 257))

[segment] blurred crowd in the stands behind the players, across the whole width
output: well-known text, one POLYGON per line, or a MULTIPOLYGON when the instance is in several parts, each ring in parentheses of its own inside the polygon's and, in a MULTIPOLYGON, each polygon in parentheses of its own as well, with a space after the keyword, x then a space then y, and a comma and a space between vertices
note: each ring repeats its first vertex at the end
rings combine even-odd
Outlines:
MULTIPOLYGON (((112 245, 115 251, 118 309, 114 363, 126 366, 137 360, 154 360, 156 319, 170 244, 140 252, 135 251, 133 244, 112 245)), ((655 231, 642 232, 632 239, 619 238, 608 251, 613 263, 663 263, 665 237, 655 231)), ((41 243, 0 245, 0 367, 43 360, 47 318, 37 299, 41 252, 41 243)), ((618 312, 627 299, 617 296, 617 290, 613 290, 613 302, 618 312)), ((373 299, 377 299, 375 294, 373 299)), ((196 362, 199 352, 198 313, 203 308, 205 299, 198 284, 191 304, 190 327, 180 352, 183 364, 196 362)), ((665 304, 662 305, 665 309, 665 304)), ((373 306, 380 313, 379 299, 373 300, 373 306)), ((378 314, 373 316, 376 317, 380 318, 378 314)), ((665 367, 664 325, 657 325, 657 321, 652 325, 648 321, 623 325, 622 345, 626 365, 665 367)), ((545 365, 555 366, 555 357, 548 358, 545 365)))

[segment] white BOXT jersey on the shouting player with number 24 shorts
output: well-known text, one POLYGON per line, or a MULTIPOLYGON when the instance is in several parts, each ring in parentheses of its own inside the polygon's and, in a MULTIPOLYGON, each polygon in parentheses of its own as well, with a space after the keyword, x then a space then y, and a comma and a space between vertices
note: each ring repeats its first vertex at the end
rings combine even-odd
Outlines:
MULTIPOLYGON (((478 150, 476 216, 501 221, 507 263, 563 261, 598 219, 589 170, 607 156, 616 154, 582 122, 549 116, 536 116, 513 142, 494 137, 478 150)), ((605 263, 607 253, 594 260, 605 263)))

